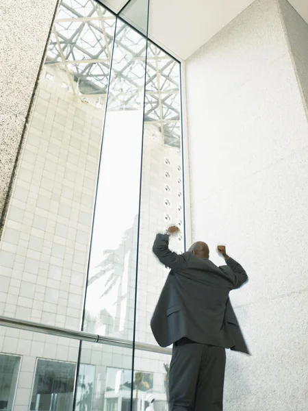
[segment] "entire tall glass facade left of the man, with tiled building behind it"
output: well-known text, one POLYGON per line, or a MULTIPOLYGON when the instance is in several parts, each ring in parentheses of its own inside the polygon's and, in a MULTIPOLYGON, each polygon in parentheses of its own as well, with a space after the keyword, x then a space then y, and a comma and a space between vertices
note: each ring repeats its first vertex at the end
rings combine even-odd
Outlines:
POLYGON ((148 0, 57 10, 3 232, 2 312, 106 343, 0 327, 0 410, 166 410, 170 355, 150 321, 168 269, 151 249, 172 224, 185 248, 181 86, 148 14, 148 0))

